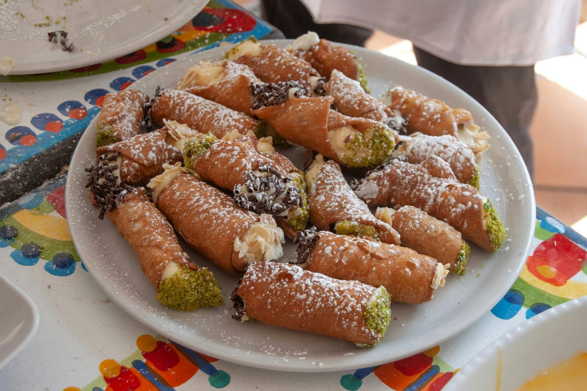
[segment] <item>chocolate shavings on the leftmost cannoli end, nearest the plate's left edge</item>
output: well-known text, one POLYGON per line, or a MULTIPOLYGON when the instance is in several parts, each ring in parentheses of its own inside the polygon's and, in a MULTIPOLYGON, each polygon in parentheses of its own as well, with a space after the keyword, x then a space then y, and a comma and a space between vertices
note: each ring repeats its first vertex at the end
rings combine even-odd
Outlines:
POLYGON ((129 194, 134 187, 123 184, 119 177, 112 174, 118 169, 118 164, 110 164, 119 156, 115 152, 109 156, 100 155, 92 166, 85 168, 87 174, 86 188, 94 194, 94 202, 100 205, 98 218, 102 220, 106 212, 111 212, 129 194))

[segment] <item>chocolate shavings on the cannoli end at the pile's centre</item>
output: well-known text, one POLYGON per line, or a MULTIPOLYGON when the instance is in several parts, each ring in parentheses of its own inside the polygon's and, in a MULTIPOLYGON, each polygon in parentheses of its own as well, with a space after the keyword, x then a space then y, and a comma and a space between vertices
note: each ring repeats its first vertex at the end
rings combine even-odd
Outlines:
POLYGON ((255 175, 253 171, 247 171, 247 181, 242 185, 234 186, 232 190, 234 202, 239 207, 259 214, 268 213, 275 216, 302 205, 302 196, 292 183, 291 176, 282 176, 269 164, 259 167, 258 170, 261 173, 269 174, 260 177, 255 175), (290 183, 290 186, 286 188, 287 183, 290 183), (242 186, 247 188, 245 192, 241 191, 242 186), (282 196, 283 200, 277 202, 276 198, 282 196))

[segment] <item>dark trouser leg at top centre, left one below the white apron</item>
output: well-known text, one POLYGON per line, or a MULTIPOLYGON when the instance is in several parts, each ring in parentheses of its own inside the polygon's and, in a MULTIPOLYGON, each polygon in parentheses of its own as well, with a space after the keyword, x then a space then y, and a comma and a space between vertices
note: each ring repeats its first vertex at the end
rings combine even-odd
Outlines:
POLYGON ((298 38, 308 31, 315 31, 320 38, 329 41, 364 46, 373 33, 358 26, 314 23, 312 15, 299 0, 262 0, 261 6, 262 18, 280 29, 285 38, 298 38))

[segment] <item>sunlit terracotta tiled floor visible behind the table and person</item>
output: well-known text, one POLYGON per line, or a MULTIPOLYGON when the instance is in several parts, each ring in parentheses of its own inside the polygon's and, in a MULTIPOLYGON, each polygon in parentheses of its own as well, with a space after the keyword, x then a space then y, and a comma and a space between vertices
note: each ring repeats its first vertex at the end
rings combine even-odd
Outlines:
MULTIPOLYGON (((235 0, 261 15, 259 0, 235 0)), ((587 0, 581 2, 575 53, 535 65, 538 106, 534 139, 536 204, 587 236, 587 0)), ((411 42, 379 30, 365 47, 416 65, 411 42)))

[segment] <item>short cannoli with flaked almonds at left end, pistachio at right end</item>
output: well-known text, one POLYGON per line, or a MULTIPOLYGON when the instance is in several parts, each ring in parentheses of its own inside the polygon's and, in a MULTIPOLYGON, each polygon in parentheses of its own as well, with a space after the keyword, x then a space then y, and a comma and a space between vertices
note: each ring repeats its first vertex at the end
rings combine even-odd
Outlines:
POLYGON ((444 221, 410 205, 397 209, 377 208, 375 217, 399 232, 403 246, 450 265, 452 274, 465 274, 471 249, 461 232, 444 221))

